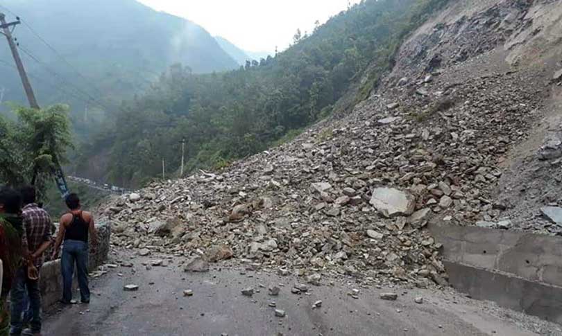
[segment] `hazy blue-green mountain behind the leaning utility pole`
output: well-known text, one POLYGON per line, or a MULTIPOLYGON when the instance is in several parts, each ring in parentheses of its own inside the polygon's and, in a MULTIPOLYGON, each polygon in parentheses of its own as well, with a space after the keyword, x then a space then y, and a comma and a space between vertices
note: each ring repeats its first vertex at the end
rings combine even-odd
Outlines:
MULTIPOLYGON (((8 21, 19 15, 24 22, 14 36, 40 105, 69 103, 75 125, 84 131, 92 118, 142 94, 171 64, 182 63, 194 73, 239 67, 201 26, 135 0, 4 0, 1 5, 13 13, 6 12, 8 21)), ((17 72, 9 66, 8 44, 0 37, 3 100, 25 103, 17 72)))

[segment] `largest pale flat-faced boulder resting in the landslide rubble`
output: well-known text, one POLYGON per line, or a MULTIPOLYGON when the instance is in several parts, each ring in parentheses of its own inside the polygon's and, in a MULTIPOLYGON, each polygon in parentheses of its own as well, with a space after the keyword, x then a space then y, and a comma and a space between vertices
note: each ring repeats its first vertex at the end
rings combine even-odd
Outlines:
POLYGON ((394 188, 375 188, 370 203, 381 215, 391 218, 414 213, 416 198, 411 193, 394 188))

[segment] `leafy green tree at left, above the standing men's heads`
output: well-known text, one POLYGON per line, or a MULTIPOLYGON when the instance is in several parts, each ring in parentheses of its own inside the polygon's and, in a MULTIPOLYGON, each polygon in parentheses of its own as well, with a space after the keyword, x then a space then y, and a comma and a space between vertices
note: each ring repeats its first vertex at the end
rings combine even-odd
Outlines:
POLYGON ((72 147, 68 107, 15 107, 17 121, 0 116, 0 184, 46 189, 56 163, 65 163, 72 147))

